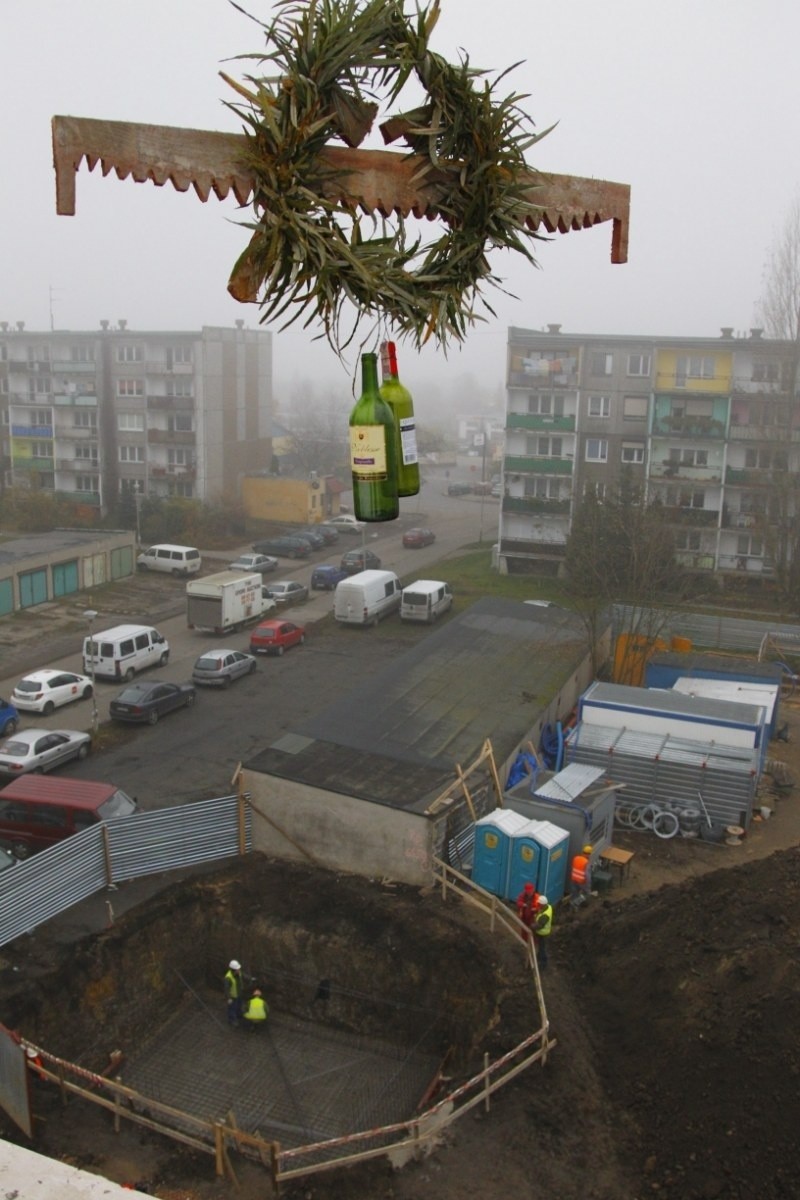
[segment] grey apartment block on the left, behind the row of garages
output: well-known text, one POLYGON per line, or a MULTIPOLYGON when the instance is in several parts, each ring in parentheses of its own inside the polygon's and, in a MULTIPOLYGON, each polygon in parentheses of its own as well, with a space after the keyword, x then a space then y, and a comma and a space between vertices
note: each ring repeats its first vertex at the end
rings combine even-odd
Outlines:
POLYGON ((261 330, 28 331, 0 322, 6 486, 96 509, 126 491, 215 500, 269 467, 272 342, 261 330))

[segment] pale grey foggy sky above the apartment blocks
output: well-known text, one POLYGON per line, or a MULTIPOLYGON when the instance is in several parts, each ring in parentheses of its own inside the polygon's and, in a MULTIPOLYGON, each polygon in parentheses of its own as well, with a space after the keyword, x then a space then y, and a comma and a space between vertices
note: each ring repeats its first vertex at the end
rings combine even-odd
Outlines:
MULTIPOLYGON (((270 4, 243 6, 270 17, 270 4)), ((518 296, 487 294, 497 320, 446 361, 434 348, 399 348, 417 412, 426 390, 467 374, 487 391, 501 386, 509 325, 670 336, 750 328, 769 245, 800 190, 796 4, 441 8, 433 48, 451 61, 458 47, 487 68, 524 59, 501 94, 527 94, 521 104, 539 130, 558 122, 531 166, 632 186, 631 244, 630 263, 612 266, 608 223, 540 244, 539 270, 493 258, 518 296)), ((84 166, 77 215, 56 217, 49 122, 58 113, 239 132, 217 72, 241 78, 248 65, 223 60, 263 49, 260 29, 225 0, 4 0, 2 17, 0 319, 35 330, 96 329, 103 318, 131 329, 258 325, 258 308, 225 292, 247 211, 84 166)), ((278 394, 307 378, 350 390, 348 370, 299 326, 276 334, 275 378, 278 394)))

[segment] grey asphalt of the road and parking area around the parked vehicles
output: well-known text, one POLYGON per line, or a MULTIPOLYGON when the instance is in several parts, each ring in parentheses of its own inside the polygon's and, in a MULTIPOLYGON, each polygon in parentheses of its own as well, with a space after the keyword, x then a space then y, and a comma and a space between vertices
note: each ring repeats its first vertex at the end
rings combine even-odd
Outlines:
MULTIPOLYGON (((411 506, 405 509, 407 517, 399 527, 395 523, 372 527, 366 535, 366 545, 375 550, 381 565, 395 570, 403 582, 429 577, 446 580, 449 554, 479 540, 486 542, 488 551, 495 540, 497 500, 451 498, 443 493, 443 481, 433 480, 423 487, 419 502, 405 503, 411 506), (435 544, 423 550, 404 550, 402 529, 410 523, 429 524, 437 534, 435 544), (435 570, 432 569, 434 564, 435 570)), ((282 564, 276 576, 308 583, 314 565, 337 562, 344 550, 357 545, 359 538, 342 535, 338 546, 327 547, 327 552, 318 551, 302 564, 282 564)), ((60 773, 114 782, 136 796, 144 809, 229 792, 239 762, 313 713, 336 702, 347 703, 347 695, 360 674, 379 668, 408 644, 408 626, 402 626, 403 637, 391 636, 391 624, 399 624, 398 617, 389 618, 379 631, 343 629, 329 620, 314 632, 315 624, 332 611, 332 604, 331 593, 312 593, 305 605, 287 610, 289 619, 308 626, 305 646, 288 650, 282 658, 259 659, 259 670, 228 690, 198 689, 192 709, 172 713, 156 726, 113 726, 113 744, 83 763, 61 768, 60 773), (380 636, 374 636, 377 632, 380 636)), ((142 620, 150 623, 152 618, 143 614, 142 620)), ((170 660, 166 668, 145 672, 143 678, 188 679, 194 660, 212 646, 222 642, 233 648, 247 648, 247 631, 222 640, 199 634, 186 628, 184 612, 156 623, 169 640, 170 660)), ((425 637, 427 632, 425 626, 414 628, 415 637, 425 637)), ((43 644, 38 665, 82 671, 79 646, 76 653, 53 661, 43 644)), ((0 694, 8 695, 18 678, 17 672, 1 679, 0 694)), ((108 720, 108 703, 119 690, 118 684, 97 682, 101 731, 108 720)), ((20 720, 22 727, 28 728, 89 730, 91 724, 91 701, 59 708, 49 718, 23 714, 20 720)))

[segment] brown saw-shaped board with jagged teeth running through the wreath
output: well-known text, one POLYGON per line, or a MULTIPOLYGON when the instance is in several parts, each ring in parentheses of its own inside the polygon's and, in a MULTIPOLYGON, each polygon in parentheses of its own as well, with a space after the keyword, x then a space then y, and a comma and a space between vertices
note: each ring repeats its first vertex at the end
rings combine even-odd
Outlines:
MULTIPOLYGON (((205 202, 211 193, 224 199, 233 193, 247 204, 253 175, 245 160, 246 139, 240 133, 184 130, 168 125, 100 121, 86 116, 53 118, 56 212, 73 216, 76 175, 85 160, 103 175, 132 176, 162 187, 170 182, 179 192, 193 187, 205 202)), ((325 198, 363 212, 384 216, 439 216, 438 200, 444 174, 415 155, 389 150, 348 150, 327 146, 327 166, 342 174, 325 187, 325 198)), ((548 233, 590 229, 613 222, 612 263, 627 262, 631 188, 604 179, 549 175, 533 172, 525 224, 548 233)))

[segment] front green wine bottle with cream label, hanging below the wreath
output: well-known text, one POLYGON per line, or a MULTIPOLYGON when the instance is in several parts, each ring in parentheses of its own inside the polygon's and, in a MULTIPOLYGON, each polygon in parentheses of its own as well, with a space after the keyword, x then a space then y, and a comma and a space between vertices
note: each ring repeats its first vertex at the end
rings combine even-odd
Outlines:
POLYGON ((353 509, 359 521, 393 521, 397 500, 395 414, 378 389, 378 355, 361 355, 361 395, 350 413, 353 509))

